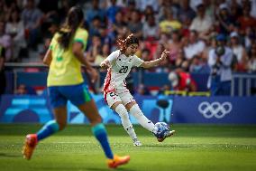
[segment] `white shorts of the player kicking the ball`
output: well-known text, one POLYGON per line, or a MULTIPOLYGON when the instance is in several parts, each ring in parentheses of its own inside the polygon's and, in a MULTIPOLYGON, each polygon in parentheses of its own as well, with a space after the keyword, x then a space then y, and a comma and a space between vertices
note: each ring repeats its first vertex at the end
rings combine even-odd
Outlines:
POLYGON ((134 101, 133 96, 129 90, 124 90, 119 93, 116 91, 107 92, 105 94, 105 100, 109 107, 112 107, 112 105, 117 101, 121 101, 123 106, 134 101))

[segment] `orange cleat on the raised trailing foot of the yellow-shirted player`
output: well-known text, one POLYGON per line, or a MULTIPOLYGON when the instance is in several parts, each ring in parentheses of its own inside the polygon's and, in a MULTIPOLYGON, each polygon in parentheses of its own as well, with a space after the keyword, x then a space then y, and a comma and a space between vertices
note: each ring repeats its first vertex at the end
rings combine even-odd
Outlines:
POLYGON ((23 146, 23 158, 31 159, 32 152, 37 145, 37 135, 29 134, 26 136, 25 143, 23 146))

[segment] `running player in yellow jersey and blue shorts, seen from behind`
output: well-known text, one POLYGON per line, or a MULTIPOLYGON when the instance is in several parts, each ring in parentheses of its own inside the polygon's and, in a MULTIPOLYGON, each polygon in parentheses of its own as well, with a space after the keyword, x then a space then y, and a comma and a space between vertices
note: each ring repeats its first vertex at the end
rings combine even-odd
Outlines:
POLYGON ((102 119, 96 109, 96 103, 84 84, 81 64, 86 66, 93 81, 96 80, 97 72, 83 55, 88 36, 87 31, 81 28, 83 21, 82 9, 78 6, 70 8, 65 24, 51 40, 50 49, 43 62, 50 66, 47 86, 55 119, 46 123, 36 134, 26 136, 23 157, 30 159, 39 141, 66 127, 67 101, 70 100, 87 116, 92 126, 92 132, 105 152, 107 165, 117 167, 126 164, 130 157, 113 155, 105 126, 101 123, 102 119))

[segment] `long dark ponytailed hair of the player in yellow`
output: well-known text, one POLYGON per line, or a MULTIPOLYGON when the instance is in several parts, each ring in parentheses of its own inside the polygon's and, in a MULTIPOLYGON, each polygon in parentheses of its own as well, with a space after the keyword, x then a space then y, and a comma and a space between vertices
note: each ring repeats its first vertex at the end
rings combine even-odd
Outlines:
POLYGON ((73 6, 69 9, 69 14, 66 17, 66 21, 59 30, 60 36, 58 42, 64 49, 69 48, 70 40, 76 33, 83 20, 84 14, 80 7, 73 6))

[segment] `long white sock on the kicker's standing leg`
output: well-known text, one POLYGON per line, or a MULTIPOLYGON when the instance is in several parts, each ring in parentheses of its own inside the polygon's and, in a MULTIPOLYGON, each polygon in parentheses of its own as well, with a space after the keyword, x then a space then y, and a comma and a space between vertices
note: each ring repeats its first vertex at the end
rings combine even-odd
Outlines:
POLYGON ((129 119, 128 116, 128 112, 125 109, 125 107, 123 106, 123 104, 119 104, 116 108, 115 108, 116 113, 118 113, 118 115, 121 118, 121 122, 123 124, 123 128, 126 130, 126 132, 129 134, 129 136, 132 139, 137 139, 136 133, 134 131, 133 125, 129 119))

